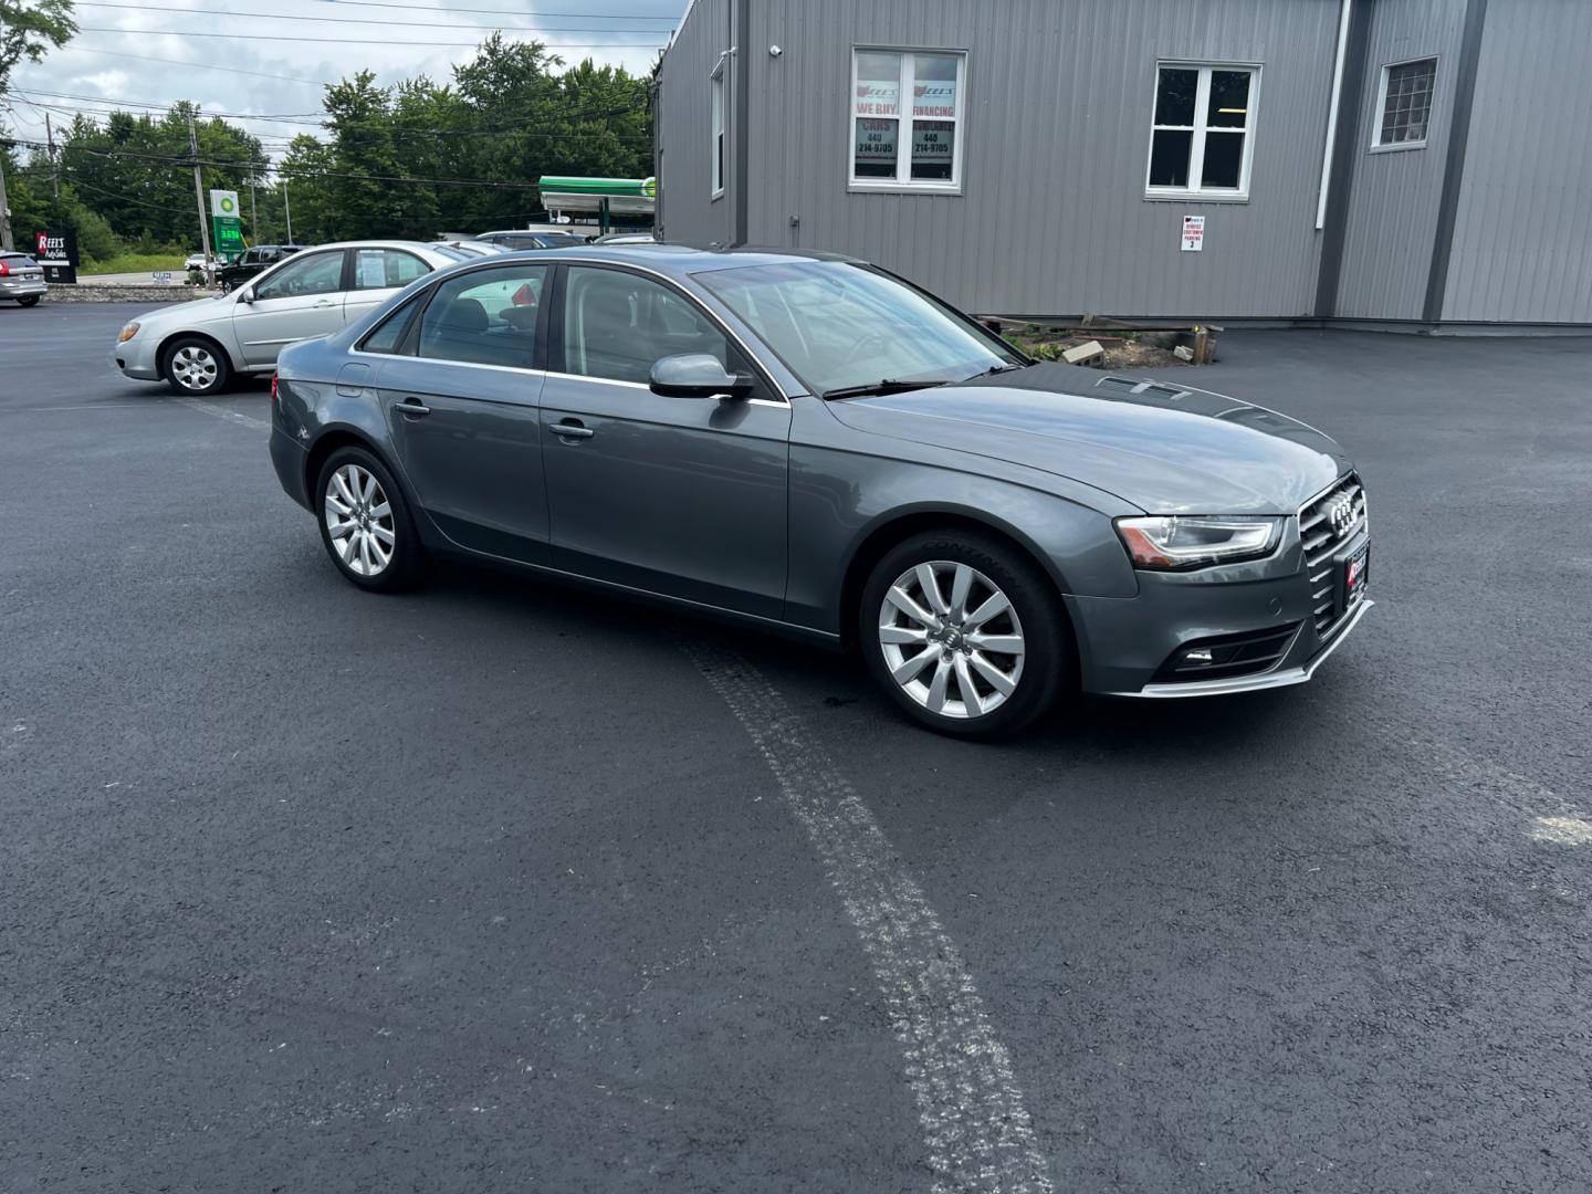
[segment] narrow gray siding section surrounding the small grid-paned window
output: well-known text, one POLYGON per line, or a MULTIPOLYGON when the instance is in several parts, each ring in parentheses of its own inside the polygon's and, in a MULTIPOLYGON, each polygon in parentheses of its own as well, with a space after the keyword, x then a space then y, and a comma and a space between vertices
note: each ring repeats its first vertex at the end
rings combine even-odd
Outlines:
POLYGON ((1344 318, 1418 320, 1438 229, 1465 0, 1371 2, 1364 91, 1353 131, 1358 145, 1348 197, 1348 234, 1334 314, 1344 318), (1374 153, 1371 140, 1382 119, 1377 111, 1382 67, 1415 57, 1438 59, 1426 148, 1374 153))

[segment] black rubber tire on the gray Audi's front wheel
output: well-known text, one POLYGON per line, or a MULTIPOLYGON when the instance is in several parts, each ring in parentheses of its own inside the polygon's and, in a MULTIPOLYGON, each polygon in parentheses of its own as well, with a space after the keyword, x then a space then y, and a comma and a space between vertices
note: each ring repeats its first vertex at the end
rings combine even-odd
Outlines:
POLYGON ((890 699, 920 726, 952 737, 1014 734, 1052 708, 1062 691, 1073 685, 1071 632, 1055 586, 1028 556, 993 535, 974 530, 927 532, 885 552, 863 587, 856 610, 856 642, 868 672, 890 699), (936 592, 947 607, 944 618, 925 603, 927 591, 915 572, 919 565, 930 565, 935 572, 936 592), (962 575, 958 565, 973 575, 960 613, 952 603, 957 576, 962 575), (906 581, 907 595, 917 599, 920 611, 935 615, 933 626, 938 629, 927 630, 933 642, 927 642, 922 651, 915 643, 893 648, 892 664, 887 654, 892 646, 880 638, 882 622, 890 621, 890 629, 903 634, 917 634, 920 624, 930 627, 930 622, 915 615, 896 613, 893 602, 885 607, 892 587, 909 573, 915 579, 906 581), (987 615, 973 629, 970 615, 985 608, 995 591, 1006 599, 1006 610, 987 615), (981 651, 977 642, 989 643, 990 650, 981 651), (1017 645, 1022 650, 1000 651, 995 643, 1017 645), (919 670, 904 683, 896 681, 893 665, 911 669, 912 664, 919 670), (981 672, 981 667, 985 670, 981 672), (933 677, 942 669, 946 683, 939 691, 941 710, 936 712, 928 704, 935 699, 935 686, 923 673, 933 677), (992 675, 1009 683, 1011 691, 995 688, 992 675), (971 700, 963 699, 962 691, 968 681, 974 688, 971 700), (970 712, 974 704, 982 712, 970 712))

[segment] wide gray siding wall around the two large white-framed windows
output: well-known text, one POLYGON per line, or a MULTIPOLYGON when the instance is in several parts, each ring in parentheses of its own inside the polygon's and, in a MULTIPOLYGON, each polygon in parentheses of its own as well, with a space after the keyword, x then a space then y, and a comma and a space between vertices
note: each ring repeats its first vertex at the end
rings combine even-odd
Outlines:
MULTIPOLYGON (((753 244, 866 256, 992 314, 1310 314, 1337 0, 755 8, 753 244), (847 191, 850 53, 869 43, 970 51, 962 196, 847 191), (1250 202, 1143 197, 1157 59, 1261 64, 1250 202), (1202 253, 1180 252, 1184 213, 1207 217, 1202 253)), ((712 239, 665 202, 670 237, 712 239)))

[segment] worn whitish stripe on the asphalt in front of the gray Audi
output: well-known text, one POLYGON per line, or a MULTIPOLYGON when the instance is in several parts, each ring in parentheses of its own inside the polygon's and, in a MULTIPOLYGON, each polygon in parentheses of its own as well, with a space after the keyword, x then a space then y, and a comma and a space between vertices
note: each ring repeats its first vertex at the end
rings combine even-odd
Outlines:
POLYGON ((763 751, 863 941, 906 1052, 936 1194, 1052 1189, 973 976, 868 806, 751 664, 721 646, 685 650, 763 751))

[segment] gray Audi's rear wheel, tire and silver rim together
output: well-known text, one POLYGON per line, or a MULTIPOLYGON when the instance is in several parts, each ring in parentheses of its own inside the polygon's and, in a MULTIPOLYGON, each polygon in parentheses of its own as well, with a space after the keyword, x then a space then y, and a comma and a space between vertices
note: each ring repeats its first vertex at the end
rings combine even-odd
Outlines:
POLYGON ((315 486, 320 540, 338 572, 361 589, 414 583, 423 562, 409 503, 392 473, 363 447, 339 447, 315 486))

